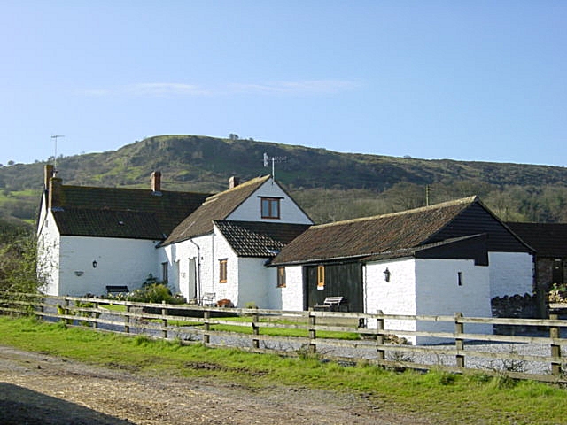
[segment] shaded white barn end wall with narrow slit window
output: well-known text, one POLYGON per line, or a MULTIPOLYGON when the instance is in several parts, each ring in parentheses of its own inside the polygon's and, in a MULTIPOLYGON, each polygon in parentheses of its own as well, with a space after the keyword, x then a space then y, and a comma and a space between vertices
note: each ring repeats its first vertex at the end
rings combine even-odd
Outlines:
MULTIPOLYGON (((416 259, 416 299, 418 315, 492 317, 489 267, 475 266, 470 259, 416 259), (461 273, 462 285, 459 285, 461 273)), ((419 321, 417 330, 454 332, 452 322, 419 321)), ((491 334, 490 325, 465 325, 465 332, 491 334)), ((416 344, 442 342, 418 336, 416 344)))

